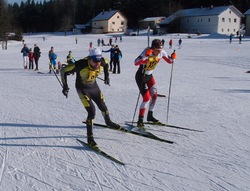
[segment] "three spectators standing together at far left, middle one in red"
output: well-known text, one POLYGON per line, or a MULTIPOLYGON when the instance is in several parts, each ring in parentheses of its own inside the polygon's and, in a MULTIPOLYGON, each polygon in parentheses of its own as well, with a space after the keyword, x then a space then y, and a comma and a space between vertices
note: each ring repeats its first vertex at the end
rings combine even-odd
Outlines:
POLYGON ((37 44, 34 44, 34 49, 32 51, 32 48, 28 48, 26 44, 23 45, 23 48, 21 50, 21 53, 23 54, 23 67, 24 69, 34 69, 34 62, 36 65, 35 71, 38 70, 38 60, 41 56, 40 48, 37 46, 37 44))

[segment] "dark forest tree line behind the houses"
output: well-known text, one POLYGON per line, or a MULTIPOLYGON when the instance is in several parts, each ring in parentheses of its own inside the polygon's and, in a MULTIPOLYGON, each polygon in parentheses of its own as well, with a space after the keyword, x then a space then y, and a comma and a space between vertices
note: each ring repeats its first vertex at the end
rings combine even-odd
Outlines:
POLYGON ((129 28, 138 28, 146 17, 169 16, 180 9, 234 5, 241 12, 250 0, 34 0, 7 4, 0 0, 0 38, 4 32, 54 32, 86 24, 101 11, 119 10, 129 28))

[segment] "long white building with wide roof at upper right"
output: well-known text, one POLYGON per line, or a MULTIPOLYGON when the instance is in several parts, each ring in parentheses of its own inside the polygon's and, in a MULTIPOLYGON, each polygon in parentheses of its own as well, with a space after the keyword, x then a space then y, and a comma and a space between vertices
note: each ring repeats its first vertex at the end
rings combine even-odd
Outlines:
POLYGON ((233 5, 183 9, 159 23, 161 32, 236 34, 244 15, 233 5))

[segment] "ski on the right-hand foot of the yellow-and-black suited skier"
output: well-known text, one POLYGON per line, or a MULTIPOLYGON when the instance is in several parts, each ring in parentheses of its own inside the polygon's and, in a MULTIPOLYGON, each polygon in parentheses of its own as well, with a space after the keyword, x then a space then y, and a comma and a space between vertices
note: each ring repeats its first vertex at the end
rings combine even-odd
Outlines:
MULTIPOLYGON (((83 121, 83 123, 86 124, 85 121, 83 121)), ((141 131, 141 130, 138 130, 138 129, 136 130, 137 127, 135 127, 134 125, 129 124, 129 123, 126 123, 126 125, 127 125, 126 127, 120 126, 119 128, 112 128, 112 127, 109 127, 107 125, 100 124, 100 123, 94 123, 93 125, 103 127, 103 128, 112 129, 112 130, 116 130, 116 131, 122 131, 122 132, 125 132, 125 133, 131 133, 131 134, 134 134, 134 135, 138 135, 138 136, 141 136, 141 137, 153 139, 153 140, 160 141, 160 142, 165 142, 165 143, 169 143, 169 144, 174 143, 173 141, 157 137, 156 135, 154 135, 154 134, 152 134, 152 133, 150 133, 148 131, 141 131)))

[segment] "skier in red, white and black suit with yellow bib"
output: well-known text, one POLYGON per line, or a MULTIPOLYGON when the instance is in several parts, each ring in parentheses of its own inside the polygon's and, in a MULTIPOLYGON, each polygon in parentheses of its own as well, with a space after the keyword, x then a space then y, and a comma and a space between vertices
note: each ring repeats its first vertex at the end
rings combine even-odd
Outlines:
POLYGON ((153 71, 161 58, 169 64, 173 63, 173 59, 162 49, 161 40, 154 39, 151 47, 143 50, 143 52, 135 59, 135 65, 139 65, 135 75, 135 80, 143 98, 137 121, 137 126, 141 129, 144 129, 143 118, 148 105, 149 109, 147 121, 155 123, 159 122, 159 120, 153 116, 153 110, 157 99, 157 89, 155 79, 153 77, 153 71))

